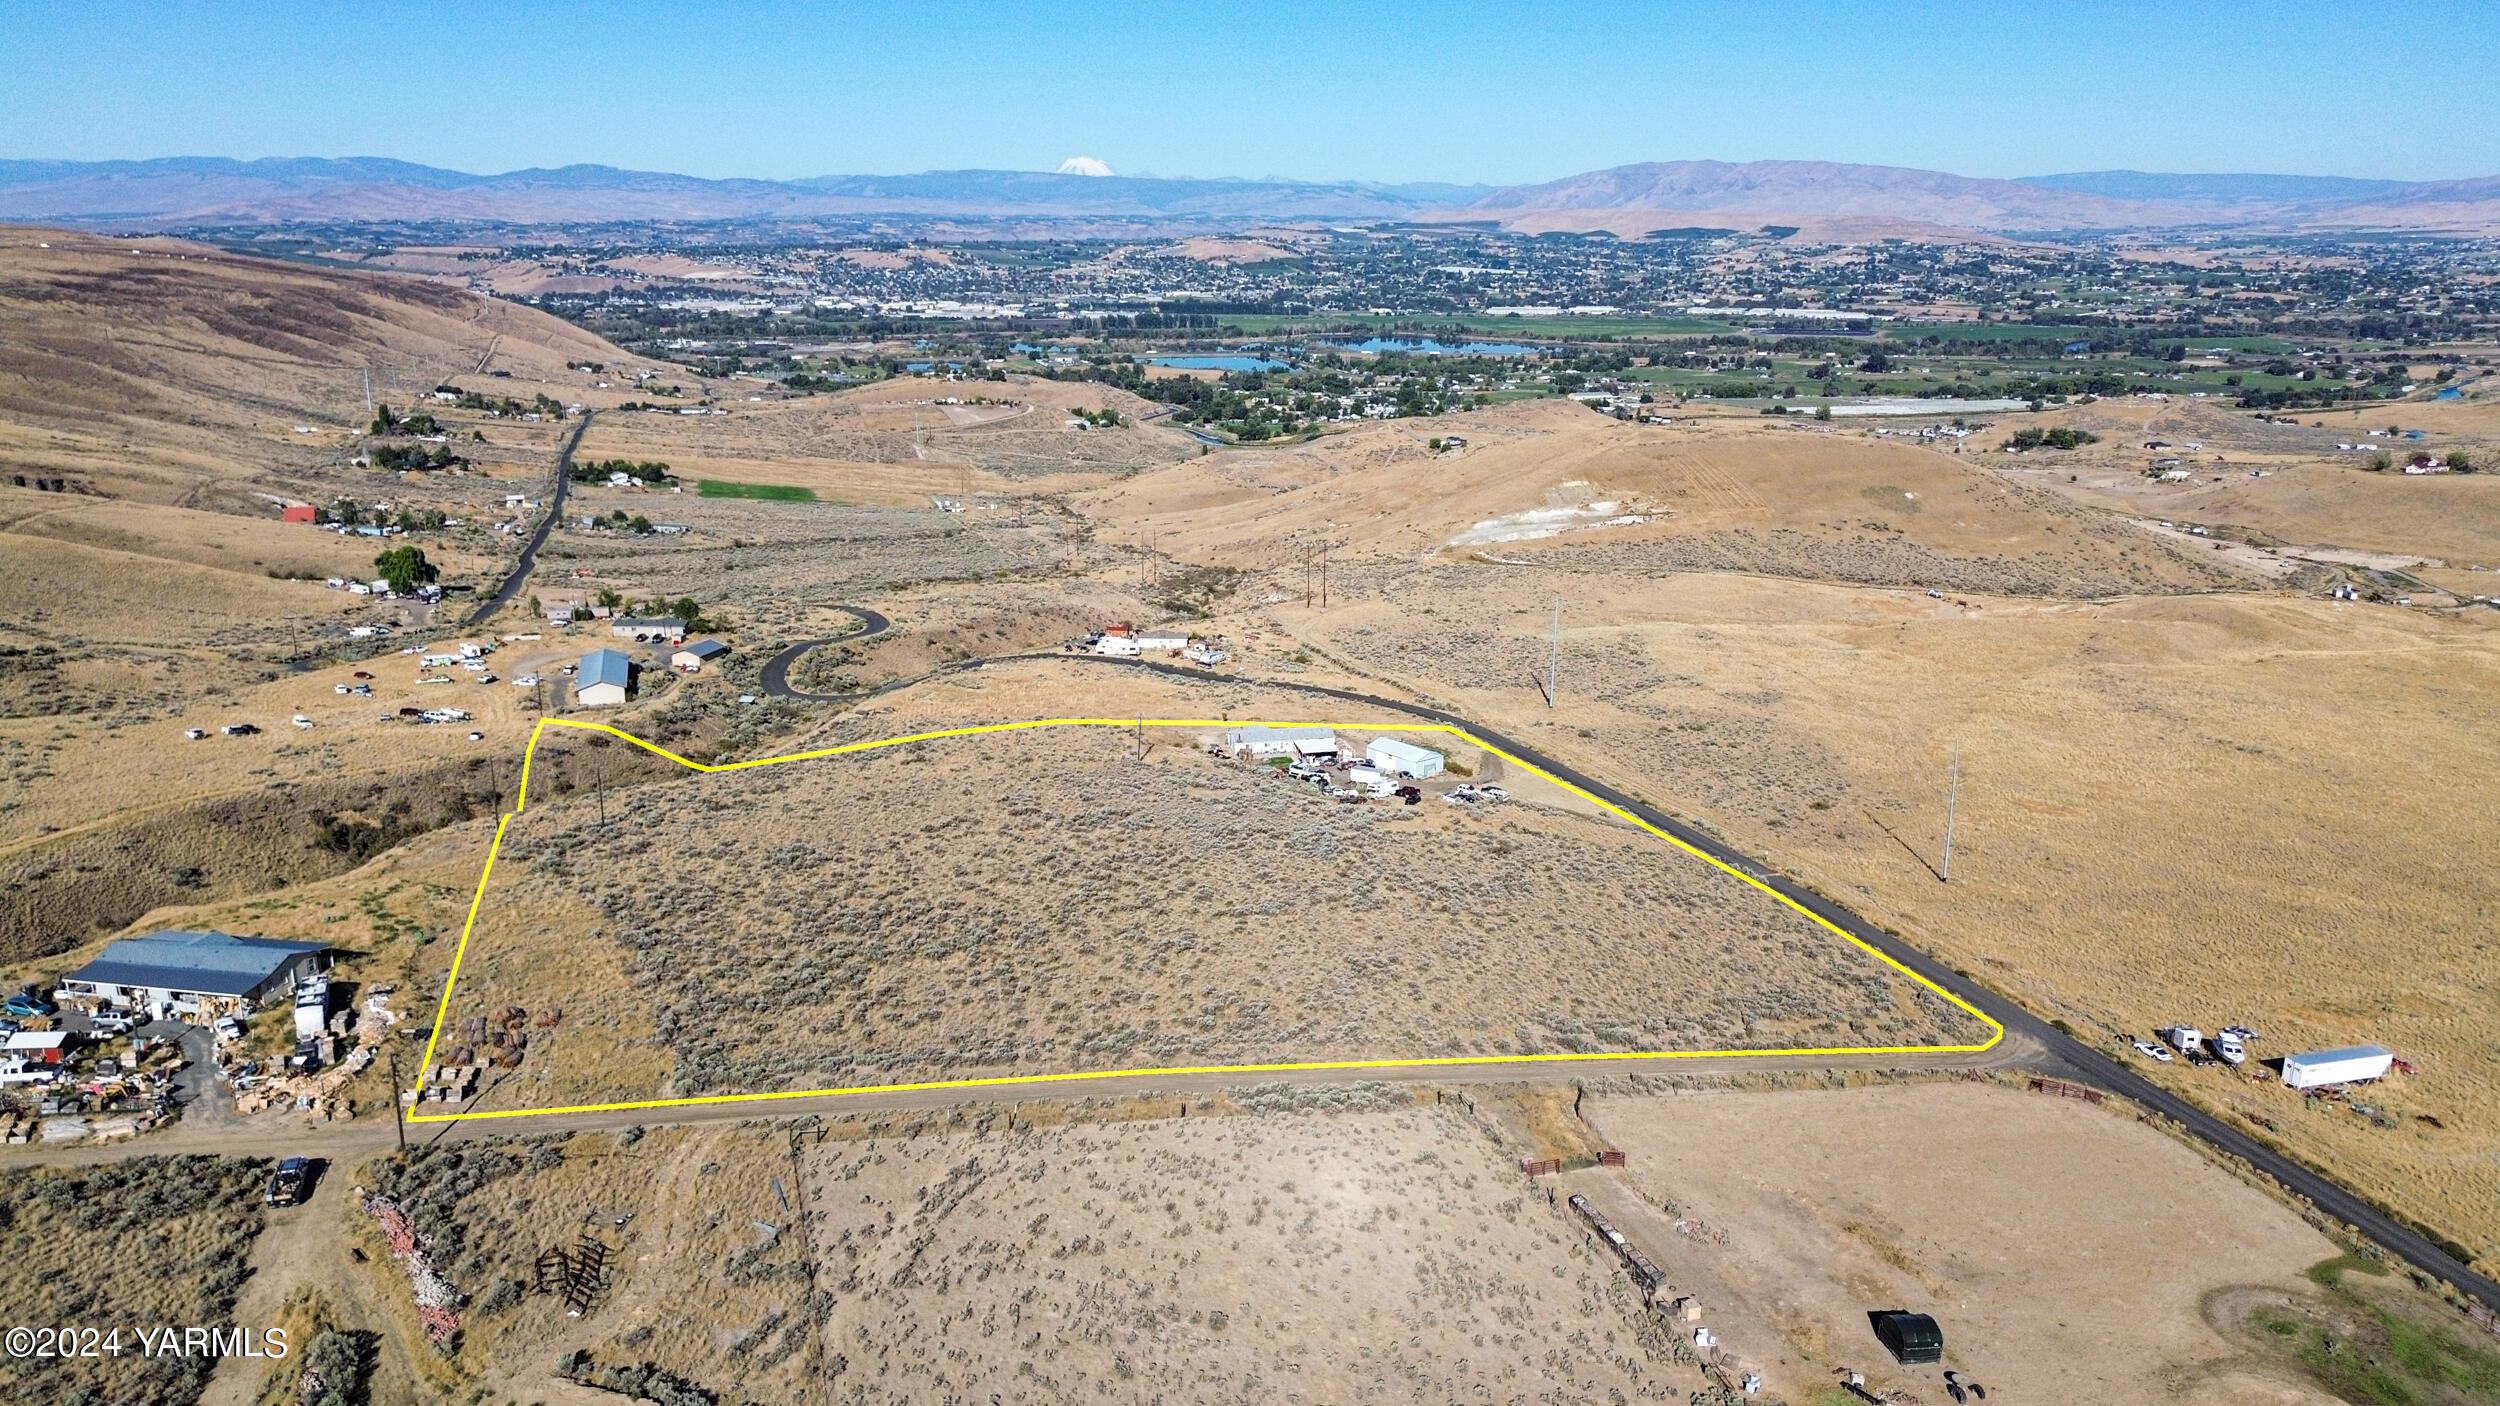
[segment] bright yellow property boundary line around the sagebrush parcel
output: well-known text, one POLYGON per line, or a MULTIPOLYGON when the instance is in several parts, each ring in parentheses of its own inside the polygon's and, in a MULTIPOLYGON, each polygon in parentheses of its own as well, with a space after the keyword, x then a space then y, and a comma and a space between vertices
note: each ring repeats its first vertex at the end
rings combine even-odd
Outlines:
MULTIPOLYGON (((1678 851, 1682 851, 1682 853, 1688 853, 1688 856, 1708 863, 1710 868, 1718 868, 1722 873, 1730 873, 1730 876, 1750 883, 1752 888, 1760 888, 1762 893, 1768 893, 1775 901, 1780 901, 1780 906, 1790 908, 1792 913, 1800 913, 1802 918, 1808 918, 1818 928, 1822 928, 1822 931, 1828 931, 1828 933, 1848 941, 1858 951, 1862 951, 1862 953, 1872 956, 1875 961, 1890 966, 1892 971, 1908 976, 1918 986, 1922 986, 1922 988, 1942 996, 1958 1011, 1962 1011, 1972 1021, 1988 1026, 1990 1033, 1988 1033, 1988 1038, 1982 1043, 1975 1043, 1975 1046, 1830 1046, 1830 1048, 1778 1048, 1778 1051, 1622 1051, 1622 1053, 1542 1053, 1542 1056, 1335 1058, 1335 1061, 1298 1061, 1298 1063, 1208 1063, 1208 1066, 1170 1066, 1170 1068, 1102 1068, 1102 1071, 1080 1071, 1080 1073, 998 1073, 998 1076, 982 1076, 982 1078, 930 1078, 930 1081, 922 1081, 922 1083, 865 1083, 865 1086, 855 1086, 855 1088, 782 1088, 782 1091, 770 1091, 770 1093, 702 1093, 702 1096, 692 1096, 692 1098, 630 1098, 630 1101, 620 1101, 620 1103, 570 1103, 570 1106, 562 1106, 562 1108, 492 1108, 492 1111, 480 1111, 480 1113, 408 1113, 408 1121, 410 1123, 458 1123, 462 1118, 538 1118, 538 1116, 550 1116, 550 1113, 615 1113, 615 1111, 630 1111, 630 1108, 688 1108, 688 1106, 702 1106, 702 1103, 768 1103, 768 1101, 785 1101, 785 1098, 830 1098, 830 1096, 840 1096, 840 1093, 908 1093, 908 1091, 922 1091, 922 1088, 988 1088, 988 1086, 1000 1086, 1000 1083, 1080 1083, 1080 1081, 1090 1081, 1090 1078, 1132 1078, 1132 1076, 1175 1076, 1175 1073, 1280 1073, 1280 1071, 1300 1071, 1300 1068, 1425 1068, 1425 1066, 1462 1066, 1462 1063, 1565 1063, 1565 1061, 1602 1061, 1602 1058, 1775 1058, 1775 1056, 1868 1056, 1868 1053, 1980 1053, 1980 1051, 1992 1051, 1998 1046, 1998 1041, 2005 1038, 2005 1026, 1990 1021, 1980 1008, 1970 1006, 1968 1001, 1962 1001, 1960 996, 1945 991, 1942 986, 1928 981, 1925 976, 1910 971, 1908 966, 1892 961, 1890 956, 1885 956, 1875 946, 1865 943, 1862 938, 1858 938, 1848 928, 1840 928, 1840 926, 1825 921, 1812 908, 1798 903, 1795 898, 1780 893, 1778 888, 1762 883, 1760 878, 1755 878, 1755 876, 1750 876, 1750 873, 1745 873, 1745 871, 1740 871, 1740 868, 1735 868, 1730 863, 1722 863, 1722 861, 1718 861, 1718 858, 1712 858, 1712 856, 1708 856, 1708 853, 1688 846, 1685 841, 1678 841, 1668 831, 1660 831, 1658 826, 1642 821, 1640 816, 1625 811, 1622 806, 1615 806, 1612 801, 1602 801, 1598 796, 1590 796, 1588 791, 1572 786, 1570 781, 1562 781, 1560 776, 1552 776, 1552 773, 1548 773, 1540 766, 1530 766, 1530 763, 1525 763, 1525 761, 1505 753, 1502 748, 1495 748, 1492 743, 1478 738, 1475 733, 1470 733, 1465 728, 1458 728, 1458 726, 1450 726, 1450 723, 1245 723, 1245 721, 1210 721, 1210 718, 1035 718, 1030 723, 988 723, 988 726, 978 726, 978 728, 940 728, 935 733, 912 733, 908 738, 882 738, 882 741, 875 741, 875 743, 842 743, 838 748, 818 748, 818 751, 790 753, 790 756, 762 756, 762 758, 730 761, 730 763, 700 763, 700 761, 682 758, 682 756, 678 756, 678 753, 672 753, 672 751, 668 751, 668 748, 662 748, 658 743, 648 743, 648 741, 638 738, 632 733, 620 731, 620 728, 610 728, 608 723, 572 723, 572 721, 565 721, 565 718, 540 718, 538 726, 530 728, 530 746, 528 746, 528 751, 520 758, 520 796, 515 796, 512 808, 495 821, 495 843, 485 851, 485 868, 478 873, 478 891, 470 896, 468 921, 460 926, 460 946, 452 948, 452 971, 442 981, 442 1001, 435 1003, 435 1028, 432 1028, 430 1036, 425 1036, 425 1066, 418 1071, 418 1091, 425 1088, 425 1073, 435 1068, 435 1043, 442 1041, 442 1023, 450 1018, 450 1011, 452 1011, 452 988, 460 986, 460 963, 468 958, 470 936, 478 931, 478 908, 485 903, 485 886, 495 876, 495 856, 502 851, 505 828, 510 828, 512 818, 520 816, 522 811, 528 811, 528 806, 530 806, 530 763, 538 758, 538 741, 545 736, 548 728, 572 728, 572 731, 580 731, 580 733, 608 733, 610 738, 628 741, 628 743, 632 743, 632 746, 638 746, 638 748, 642 748, 642 751, 648 751, 652 756, 662 756, 662 758, 668 758, 668 761, 672 761, 678 766, 692 768, 692 771, 748 771, 752 766, 780 766, 785 761, 812 761, 812 758, 828 758, 828 756, 865 753, 865 751, 895 748, 895 746, 905 746, 905 743, 928 743, 928 741, 935 741, 935 738, 968 738, 968 736, 980 736, 980 733, 1022 733, 1022 731, 1032 731, 1032 728, 1248 728, 1248 726, 1270 726, 1270 728, 1350 728, 1350 731, 1380 731, 1380 733, 1450 733, 1452 738, 1460 738, 1460 741, 1465 741, 1465 743, 1470 743, 1475 748, 1482 748, 1482 751, 1488 751, 1488 753, 1508 761, 1510 766, 1518 766, 1520 771, 1528 771, 1530 776, 1540 776, 1540 778, 1560 786, 1562 791, 1570 791, 1572 796, 1588 801, 1590 806, 1600 806, 1602 811, 1610 811, 1610 813, 1630 821, 1632 826, 1640 826, 1642 831, 1648 831, 1648 833, 1668 841, 1678 851)), ((418 1108, 422 1108, 422 1101, 418 1103, 418 1108)))

